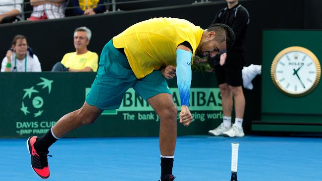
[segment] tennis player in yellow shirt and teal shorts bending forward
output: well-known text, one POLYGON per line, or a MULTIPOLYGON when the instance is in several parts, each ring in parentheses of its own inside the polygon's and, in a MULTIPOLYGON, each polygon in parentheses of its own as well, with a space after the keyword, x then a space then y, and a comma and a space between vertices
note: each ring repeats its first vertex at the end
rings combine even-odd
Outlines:
POLYGON ((214 57, 225 53, 234 37, 224 24, 203 30, 178 18, 142 21, 113 37, 102 50, 98 74, 84 105, 60 118, 44 136, 28 138, 33 170, 39 177, 49 178, 49 147, 68 132, 94 123, 103 110, 119 108, 125 91, 133 88, 161 119, 160 181, 173 181, 177 108, 164 77, 173 78, 176 74, 181 100, 179 122, 189 126, 192 121, 189 110, 192 56, 214 57))

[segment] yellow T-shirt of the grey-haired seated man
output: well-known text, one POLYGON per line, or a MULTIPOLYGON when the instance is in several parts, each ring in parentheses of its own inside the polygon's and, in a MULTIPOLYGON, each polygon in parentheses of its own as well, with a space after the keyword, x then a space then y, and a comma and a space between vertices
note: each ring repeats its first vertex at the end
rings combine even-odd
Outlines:
POLYGON ((76 52, 66 53, 61 60, 61 63, 71 69, 84 69, 91 67, 93 72, 97 72, 99 55, 92 51, 87 51, 84 54, 76 54, 76 52))

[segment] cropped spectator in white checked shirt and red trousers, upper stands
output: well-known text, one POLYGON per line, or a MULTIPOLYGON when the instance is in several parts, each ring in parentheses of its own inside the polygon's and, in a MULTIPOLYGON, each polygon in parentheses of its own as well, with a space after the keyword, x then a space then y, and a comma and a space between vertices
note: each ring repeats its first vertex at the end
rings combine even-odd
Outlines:
POLYGON ((65 0, 30 0, 33 12, 28 20, 57 19, 65 17, 65 0))

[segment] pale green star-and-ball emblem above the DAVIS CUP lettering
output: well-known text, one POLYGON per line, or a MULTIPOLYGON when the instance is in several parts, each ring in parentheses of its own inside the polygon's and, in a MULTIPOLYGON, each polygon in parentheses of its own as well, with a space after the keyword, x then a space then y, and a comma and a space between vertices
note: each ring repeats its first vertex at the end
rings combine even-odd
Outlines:
POLYGON ((27 116, 27 114, 33 114, 34 117, 38 117, 42 115, 43 109, 41 109, 44 105, 44 99, 37 95, 39 90, 37 89, 46 89, 48 88, 48 94, 51 93, 53 80, 48 80, 43 77, 40 78, 43 82, 36 84, 36 86, 32 86, 31 88, 23 89, 25 91, 20 110, 27 116), (43 86, 43 87, 40 87, 43 86), (32 96, 33 95, 33 96, 32 96), (29 107, 29 109, 28 109, 29 107))

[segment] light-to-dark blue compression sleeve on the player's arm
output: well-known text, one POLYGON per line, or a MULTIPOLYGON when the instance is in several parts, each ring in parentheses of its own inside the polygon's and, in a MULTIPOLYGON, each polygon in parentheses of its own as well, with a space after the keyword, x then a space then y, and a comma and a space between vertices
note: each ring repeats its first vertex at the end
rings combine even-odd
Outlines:
POLYGON ((181 105, 189 106, 190 85, 191 85, 191 56, 190 51, 177 49, 177 84, 179 88, 181 105))

